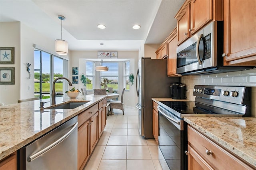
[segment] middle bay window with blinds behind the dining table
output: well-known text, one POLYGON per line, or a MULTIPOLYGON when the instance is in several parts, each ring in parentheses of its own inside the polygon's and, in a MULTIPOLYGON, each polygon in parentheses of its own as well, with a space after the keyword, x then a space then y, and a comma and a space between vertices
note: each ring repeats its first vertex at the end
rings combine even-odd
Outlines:
MULTIPOLYGON (((118 90, 118 62, 103 63, 103 66, 108 66, 108 71, 100 72, 100 80, 108 79, 108 87, 113 87, 113 90, 118 90)), ((101 88, 104 88, 103 86, 101 88)))

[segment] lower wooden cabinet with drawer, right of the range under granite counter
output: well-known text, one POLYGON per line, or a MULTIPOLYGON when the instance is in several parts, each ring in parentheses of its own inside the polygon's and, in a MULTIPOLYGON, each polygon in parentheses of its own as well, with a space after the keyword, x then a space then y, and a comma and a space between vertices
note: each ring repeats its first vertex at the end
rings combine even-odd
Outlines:
POLYGON ((229 151, 188 126, 188 170, 252 170, 229 151))

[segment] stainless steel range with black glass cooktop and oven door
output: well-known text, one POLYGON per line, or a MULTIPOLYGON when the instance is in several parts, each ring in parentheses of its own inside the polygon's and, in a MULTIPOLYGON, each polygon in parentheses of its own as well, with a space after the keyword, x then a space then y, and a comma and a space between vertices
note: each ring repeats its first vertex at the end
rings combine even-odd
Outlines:
POLYGON ((159 148, 170 169, 187 169, 184 117, 251 116, 251 87, 195 85, 195 101, 161 101, 159 148))

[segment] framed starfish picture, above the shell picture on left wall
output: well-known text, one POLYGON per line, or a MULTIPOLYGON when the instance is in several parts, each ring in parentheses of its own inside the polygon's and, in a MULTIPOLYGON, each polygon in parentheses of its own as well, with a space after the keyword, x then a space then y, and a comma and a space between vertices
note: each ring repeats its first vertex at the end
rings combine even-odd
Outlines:
POLYGON ((14 64, 14 47, 0 47, 0 64, 14 64))

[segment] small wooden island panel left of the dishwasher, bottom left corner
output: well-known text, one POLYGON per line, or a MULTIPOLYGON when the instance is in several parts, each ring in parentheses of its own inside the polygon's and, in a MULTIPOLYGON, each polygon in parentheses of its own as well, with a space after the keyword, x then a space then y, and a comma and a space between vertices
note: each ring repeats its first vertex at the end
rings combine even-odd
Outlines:
POLYGON ((0 170, 17 170, 17 152, 0 160, 0 170))

